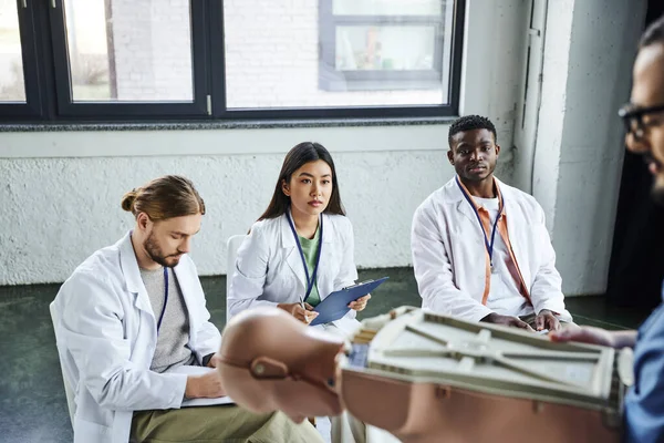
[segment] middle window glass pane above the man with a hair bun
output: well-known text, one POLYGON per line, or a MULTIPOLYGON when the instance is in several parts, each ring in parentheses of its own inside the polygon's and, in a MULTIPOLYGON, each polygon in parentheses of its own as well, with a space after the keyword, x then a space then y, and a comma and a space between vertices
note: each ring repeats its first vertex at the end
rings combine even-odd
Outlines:
POLYGON ((65 0, 73 101, 191 102, 188 0, 65 0))

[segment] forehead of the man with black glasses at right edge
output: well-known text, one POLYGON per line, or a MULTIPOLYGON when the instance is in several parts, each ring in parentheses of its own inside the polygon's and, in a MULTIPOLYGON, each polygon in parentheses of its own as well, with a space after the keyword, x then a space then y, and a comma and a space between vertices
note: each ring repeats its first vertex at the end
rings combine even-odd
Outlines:
POLYGON ((651 44, 639 51, 631 102, 636 106, 664 104, 664 44, 651 44))

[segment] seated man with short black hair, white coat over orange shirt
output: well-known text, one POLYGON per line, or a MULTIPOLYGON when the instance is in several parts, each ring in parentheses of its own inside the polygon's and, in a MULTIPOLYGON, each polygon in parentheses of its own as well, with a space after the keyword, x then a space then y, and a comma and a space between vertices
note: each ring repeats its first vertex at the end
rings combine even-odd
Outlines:
POLYGON ((494 124, 463 116, 448 143, 456 175, 413 218, 422 307, 527 330, 571 323, 541 206, 494 176, 500 154, 494 124))

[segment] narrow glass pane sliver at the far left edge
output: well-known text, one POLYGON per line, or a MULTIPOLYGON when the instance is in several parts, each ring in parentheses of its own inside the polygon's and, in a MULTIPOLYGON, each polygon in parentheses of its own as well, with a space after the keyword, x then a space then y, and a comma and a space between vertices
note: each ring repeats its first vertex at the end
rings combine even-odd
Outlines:
POLYGON ((0 102, 25 102, 15 0, 0 0, 0 102))

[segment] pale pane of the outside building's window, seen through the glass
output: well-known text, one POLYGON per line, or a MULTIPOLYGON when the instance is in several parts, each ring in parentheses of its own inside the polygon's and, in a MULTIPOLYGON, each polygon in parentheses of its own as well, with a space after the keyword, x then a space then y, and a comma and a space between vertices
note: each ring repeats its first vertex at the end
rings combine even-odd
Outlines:
POLYGON ((336 27, 335 65, 338 71, 433 70, 435 43, 434 27, 336 27))

